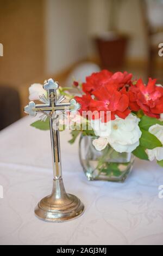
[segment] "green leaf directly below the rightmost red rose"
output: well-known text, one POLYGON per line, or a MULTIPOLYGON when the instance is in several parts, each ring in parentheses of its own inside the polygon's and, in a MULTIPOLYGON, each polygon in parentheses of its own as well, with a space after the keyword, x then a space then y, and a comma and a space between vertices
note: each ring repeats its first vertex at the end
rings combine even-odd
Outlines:
POLYGON ((143 130, 149 130, 149 128, 155 124, 160 124, 160 126, 163 126, 163 122, 160 120, 149 116, 143 116, 139 123, 139 127, 143 130))

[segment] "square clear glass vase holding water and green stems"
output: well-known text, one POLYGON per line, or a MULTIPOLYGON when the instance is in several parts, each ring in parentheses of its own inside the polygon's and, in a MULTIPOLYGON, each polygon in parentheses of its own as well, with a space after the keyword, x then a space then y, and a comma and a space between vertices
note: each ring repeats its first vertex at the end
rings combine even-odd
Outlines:
POLYGON ((81 136, 79 157, 88 180, 124 182, 130 174, 135 157, 132 153, 118 153, 111 146, 99 152, 92 136, 81 136))

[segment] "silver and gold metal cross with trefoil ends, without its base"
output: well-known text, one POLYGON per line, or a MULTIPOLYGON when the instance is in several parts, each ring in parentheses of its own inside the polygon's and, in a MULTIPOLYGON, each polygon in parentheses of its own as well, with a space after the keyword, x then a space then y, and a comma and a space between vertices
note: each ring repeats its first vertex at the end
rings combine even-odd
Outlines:
POLYGON ((67 110, 71 112, 78 111, 80 109, 80 104, 78 104, 75 99, 65 103, 64 96, 61 96, 60 94, 57 96, 59 84, 53 79, 46 81, 43 88, 47 91, 47 98, 45 96, 40 96, 40 99, 45 104, 29 102, 29 105, 24 108, 24 112, 33 117, 36 116, 37 113, 41 112, 49 117, 54 179, 60 180, 62 178, 62 171, 59 139, 59 115, 67 110), (59 111, 60 113, 58 113, 59 111))

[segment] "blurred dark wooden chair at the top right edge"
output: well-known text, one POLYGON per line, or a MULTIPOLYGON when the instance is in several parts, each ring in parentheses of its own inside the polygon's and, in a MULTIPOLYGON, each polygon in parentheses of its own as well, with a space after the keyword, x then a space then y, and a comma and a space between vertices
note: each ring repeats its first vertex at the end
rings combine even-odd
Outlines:
POLYGON ((148 78, 153 76, 159 44, 163 43, 163 1, 140 0, 148 47, 148 78))

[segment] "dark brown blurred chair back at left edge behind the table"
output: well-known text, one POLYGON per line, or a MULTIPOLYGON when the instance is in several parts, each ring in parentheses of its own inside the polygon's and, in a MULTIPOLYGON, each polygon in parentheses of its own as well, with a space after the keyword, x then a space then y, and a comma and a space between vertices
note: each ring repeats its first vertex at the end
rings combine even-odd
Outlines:
POLYGON ((20 119, 20 96, 11 87, 0 86, 0 130, 20 119))

